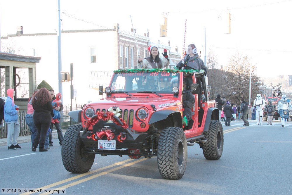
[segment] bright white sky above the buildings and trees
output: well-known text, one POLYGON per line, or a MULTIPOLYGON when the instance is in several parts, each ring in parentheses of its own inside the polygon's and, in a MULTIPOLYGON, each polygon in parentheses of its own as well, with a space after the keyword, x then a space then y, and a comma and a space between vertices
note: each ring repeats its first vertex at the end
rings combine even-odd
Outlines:
MULTIPOLYGON (((223 67, 239 54, 248 56, 260 77, 292 75, 292 0, 175 2, 112 0, 110 6, 104 1, 60 0, 61 30, 111 29, 119 23, 121 30, 131 31, 132 18, 137 35, 149 31, 151 42, 170 41, 173 52, 178 46, 182 53, 193 43, 203 60, 205 51, 212 51, 223 67), (167 37, 160 37, 164 17, 167 37)), ((25 34, 56 32, 58 0, 0 0, 0 35, 15 34, 17 26, 23 26, 25 34)))

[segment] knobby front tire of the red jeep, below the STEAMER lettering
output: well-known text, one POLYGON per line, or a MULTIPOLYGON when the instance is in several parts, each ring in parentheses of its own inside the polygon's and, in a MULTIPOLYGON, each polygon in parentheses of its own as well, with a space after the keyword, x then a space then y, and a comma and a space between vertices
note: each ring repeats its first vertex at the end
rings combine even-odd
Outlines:
POLYGON ((187 167, 187 139, 182 128, 167 127, 160 134, 157 148, 160 175, 169 180, 183 177, 187 167))

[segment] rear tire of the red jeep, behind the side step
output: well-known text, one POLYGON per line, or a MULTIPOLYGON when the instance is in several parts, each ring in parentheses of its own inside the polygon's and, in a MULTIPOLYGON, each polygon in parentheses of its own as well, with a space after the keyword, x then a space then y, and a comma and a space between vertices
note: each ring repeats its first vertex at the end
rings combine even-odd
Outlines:
POLYGON ((218 160, 223 152, 223 127, 218 120, 211 120, 209 131, 204 132, 207 139, 202 143, 203 153, 208 160, 218 160))

